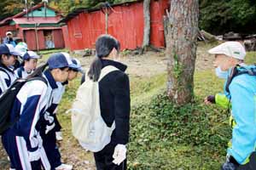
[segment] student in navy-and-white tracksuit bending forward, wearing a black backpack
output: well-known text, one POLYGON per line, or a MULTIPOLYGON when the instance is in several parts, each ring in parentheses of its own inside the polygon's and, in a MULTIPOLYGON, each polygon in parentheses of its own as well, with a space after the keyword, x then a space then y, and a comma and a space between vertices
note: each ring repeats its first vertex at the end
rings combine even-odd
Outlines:
MULTIPOLYGON (((41 165, 45 170, 51 168, 39 132, 41 122, 49 119, 45 111, 51 104, 52 91, 57 88, 56 82, 67 81, 68 66, 71 63, 71 59, 65 56, 53 54, 47 62, 49 70, 43 74, 47 84, 34 80, 26 82, 20 88, 10 113, 11 120, 15 120, 16 114, 20 114, 20 119, 2 136, 4 149, 9 155, 13 169, 41 170, 41 165)), ((33 74, 37 74, 37 71, 33 74)))

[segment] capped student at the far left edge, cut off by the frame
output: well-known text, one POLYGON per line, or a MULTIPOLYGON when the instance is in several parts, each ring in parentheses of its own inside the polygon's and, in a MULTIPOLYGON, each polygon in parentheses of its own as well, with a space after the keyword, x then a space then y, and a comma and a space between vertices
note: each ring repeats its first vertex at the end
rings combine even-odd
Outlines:
POLYGON ((20 55, 20 52, 12 45, 0 45, 0 94, 3 94, 15 82, 15 72, 10 67, 15 65, 18 55, 20 55))

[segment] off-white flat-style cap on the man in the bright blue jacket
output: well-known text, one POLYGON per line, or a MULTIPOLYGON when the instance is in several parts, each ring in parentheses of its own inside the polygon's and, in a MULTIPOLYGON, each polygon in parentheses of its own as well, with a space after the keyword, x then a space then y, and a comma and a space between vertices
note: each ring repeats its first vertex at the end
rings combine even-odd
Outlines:
POLYGON ((240 42, 224 42, 208 51, 209 54, 225 54, 227 56, 243 60, 246 50, 240 42))

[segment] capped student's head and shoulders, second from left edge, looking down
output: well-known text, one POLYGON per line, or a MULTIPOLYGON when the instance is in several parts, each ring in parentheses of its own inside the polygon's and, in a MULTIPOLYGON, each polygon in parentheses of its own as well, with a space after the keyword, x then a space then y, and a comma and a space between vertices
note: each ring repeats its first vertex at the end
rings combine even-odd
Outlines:
POLYGON ((26 78, 34 71, 38 65, 38 59, 40 56, 33 51, 28 51, 23 54, 23 66, 20 66, 15 70, 15 74, 19 78, 26 78))

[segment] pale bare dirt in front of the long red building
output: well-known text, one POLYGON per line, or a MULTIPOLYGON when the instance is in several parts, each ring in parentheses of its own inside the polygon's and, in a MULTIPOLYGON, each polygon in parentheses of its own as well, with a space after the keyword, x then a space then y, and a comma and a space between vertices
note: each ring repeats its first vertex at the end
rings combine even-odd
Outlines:
MULTIPOLYGON (((209 47, 210 48, 210 47, 209 47)), ((200 44, 197 48, 195 70, 211 69, 213 56, 207 54, 207 47, 200 44)), ((85 70, 89 68, 93 57, 80 58, 85 70)), ((128 65, 128 74, 136 77, 151 77, 166 71, 166 54, 164 52, 148 52, 143 55, 121 54, 120 61, 128 65)))

